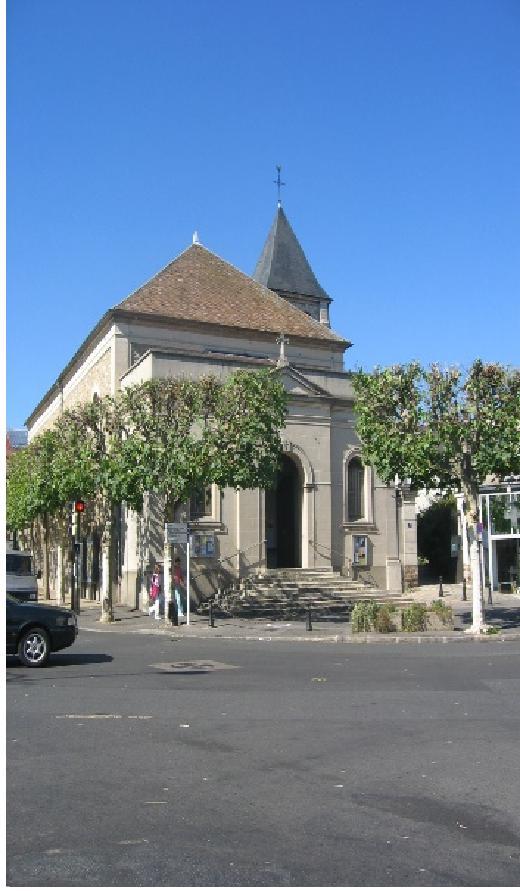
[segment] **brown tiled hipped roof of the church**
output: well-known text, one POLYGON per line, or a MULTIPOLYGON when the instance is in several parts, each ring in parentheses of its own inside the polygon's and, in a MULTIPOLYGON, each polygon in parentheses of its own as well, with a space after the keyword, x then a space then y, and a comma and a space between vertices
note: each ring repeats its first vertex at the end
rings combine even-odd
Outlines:
POLYGON ((287 300, 193 244, 116 310, 345 344, 287 300))

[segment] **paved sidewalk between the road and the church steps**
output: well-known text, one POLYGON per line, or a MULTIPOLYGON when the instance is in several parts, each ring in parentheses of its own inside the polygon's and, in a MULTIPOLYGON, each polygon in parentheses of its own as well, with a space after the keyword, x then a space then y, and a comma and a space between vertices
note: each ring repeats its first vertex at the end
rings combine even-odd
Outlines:
MULTIPOLYGON (((438 598, 438 585, 423 586, 406 592, 419 603, 431 603, 438 598)), ((230 618, 215 613, 214 627, 208 622, 207 615, 200 616, 191 612, 190 624, 186 618, 181 619, 178 626, 170 625, 164 618, 155 619, 147 613, 127 606, 114 607, 114 622, 101 623, 101 606, 89 600, 81 601, 79 616, 80 631, 99 633, 133 633, 169 635, 177 640, 198 638, 201 640, 292 640, 323 641, 330 643, 389 643, 389 642, 442 642, 457 640, 520 640, 520 597, 512 594, 496 593, 493 605, 486 606, 486 622, 499 629, 498 634, 471 635, 463 632, 464 627, 471 624, 471 602, 462 601, 460 585, 444 586, 444 597, 447 606, 451 606, 455 616, 455 630, 425 631, 406 633, 402 631, 392 634, 352 634, 351 625, 342 619, 318 620, 312 618, 312 630, 307 631, 304 620, 275 621, 272 619, 230 618)), ((397 596, 397 595, 395 595, 397 596)), ((383 595, 382 595, 383 599, 383 595)), ((53 601, 51 601, 52 603, 53 601)))

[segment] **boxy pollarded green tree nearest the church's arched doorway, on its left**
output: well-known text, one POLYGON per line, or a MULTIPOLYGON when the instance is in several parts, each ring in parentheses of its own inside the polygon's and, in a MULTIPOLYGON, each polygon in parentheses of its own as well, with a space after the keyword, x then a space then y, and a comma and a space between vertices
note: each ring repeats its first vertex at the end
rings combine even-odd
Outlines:
MULTIPOLYGON (((273 373, 146 381, 121 394, 121 411, 143 490, 162 496, 165 522, 205 485, 264 487, 276 475, 286 395, 273 373)), ((170 560, 165 544, 167 597, 170 560)))

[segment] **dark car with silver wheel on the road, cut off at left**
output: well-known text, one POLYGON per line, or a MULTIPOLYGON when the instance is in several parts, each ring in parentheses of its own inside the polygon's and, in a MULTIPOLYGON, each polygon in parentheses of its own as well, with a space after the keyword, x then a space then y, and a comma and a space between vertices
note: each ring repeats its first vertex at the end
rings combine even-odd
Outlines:
POLYGON ((6 595, 6 644, 28 668, 45 665, 51 653, 74 643, 78 635, 76 614, 68 609, 20 603, 6 595))

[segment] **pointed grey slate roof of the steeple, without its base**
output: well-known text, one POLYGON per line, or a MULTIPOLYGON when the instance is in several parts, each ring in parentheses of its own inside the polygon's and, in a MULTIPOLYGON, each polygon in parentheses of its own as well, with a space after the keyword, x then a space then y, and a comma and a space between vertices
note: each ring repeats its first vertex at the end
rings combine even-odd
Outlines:
POLYGON ((330 299, 314 275, 282 207, 276 211, 253 278, 275 291, 330 299))

